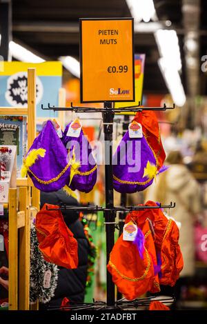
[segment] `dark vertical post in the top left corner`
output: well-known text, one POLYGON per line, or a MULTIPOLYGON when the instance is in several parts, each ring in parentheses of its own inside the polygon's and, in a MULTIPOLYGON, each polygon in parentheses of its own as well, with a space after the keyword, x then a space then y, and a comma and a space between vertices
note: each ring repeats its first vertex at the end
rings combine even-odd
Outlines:
POLYGON ((12 40, 12 3, 11 0, 0 1, 0 55, 9 61, 9 43, 12 40))

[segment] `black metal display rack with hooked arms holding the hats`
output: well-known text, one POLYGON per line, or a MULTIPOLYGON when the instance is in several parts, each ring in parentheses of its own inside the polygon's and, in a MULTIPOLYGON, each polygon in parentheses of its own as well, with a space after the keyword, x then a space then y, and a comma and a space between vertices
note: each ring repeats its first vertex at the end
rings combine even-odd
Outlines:
MULTIPOLYGON (((112 108, 112 102, 106 101, 104 102, 103 108, 90 108, 90 107, 78 107, 74 106, 71 103, 70 107, 55 107, 51 106, 48 103, 48 107, 44 108, 43 105, 41 105, 42 110, 53 110, 54 112, 57 111, 67 111, 67 112, 101 112, 102 118, 103 118, 103 132, 104 132, 104 145, 105 145, 105 161, 108 161, 108 163, 105 164, 105 193, 106 193, 106 207, 99 207, 99 206, 86 206, 86 207, 71 207, 67 205, 63 205, 60 207, 61 210, 70 209, 70 210, 77 210, 82 212, 98 212, 101 211, 104 214, 105 218, 105 225, 106 225, 106 264, 108 264, 109 258, 110 258, 110 252, 112 250, 112 247, 115 244, 115 219, 117 212, 122 213, 123 217, 120 219, 120 229, 123 226, 124 223, 124 217, 126 212, 130 212, 132 210, 145 210, 147 208, 154 209, 154 208, 173 208, 175 207, 175 203, 170 203, 170 205, 157 205, 157 206, 128 206, 126 207, 126 195, 121 196, 121 206, 115 206, 114 205, 114 194, 113 194, 113 167, 112 167, 112 133, 113 133, 113 121, 115 112, 141 112, 143 110, 155 110, 155 111, 166 111, 166 110, 172 110, 175 108, 175 104, 172 105, 172 107, 167 107, 166 104, 164 104, 162 107, 141 107, 140 103, 136 106, 130 106, 127 108, 112 108)), ((126 125, 127 125, 127 119, 126 119, 126 125)), ((120 215, 119 215, 120 216, 120 215)), ((104 302, 95 302, 92 304, 81 304, 81 305, 71 305, 70 309, 86 309, 87 305, 88 308, 91 309, 91 307, 103 307, 107 309, 115 309, 120 307, 135 307, 136 305, 146 305, 148 302, 146 299, 137 299, 136 301, 123 301, 120 299, 119 301, 115 301, 115 284, 112 282, 112 276, 107 271, 107 279, 106 279, 106 303, 104 302), (92 306, 93 305, 93 306, 92 306), (131 306, 130 306, 131 305, 131 306)), ((150 297, 152 298, 152 297, 150 297)), ((171 298, 172 299, 172 298, 171 298)))

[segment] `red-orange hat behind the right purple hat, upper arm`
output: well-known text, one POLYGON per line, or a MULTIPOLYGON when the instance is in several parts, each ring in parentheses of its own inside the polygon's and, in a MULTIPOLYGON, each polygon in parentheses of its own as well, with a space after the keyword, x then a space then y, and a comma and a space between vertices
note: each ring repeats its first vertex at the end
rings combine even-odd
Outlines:
POLYGON ((155 112, 143 110, 142 112, 137 112, 134 120, 137 123, 141 123, 142 131, 156 154, 157 170, 159 170, 166 159, 166 154, 161 143, 157 116, 155 112))

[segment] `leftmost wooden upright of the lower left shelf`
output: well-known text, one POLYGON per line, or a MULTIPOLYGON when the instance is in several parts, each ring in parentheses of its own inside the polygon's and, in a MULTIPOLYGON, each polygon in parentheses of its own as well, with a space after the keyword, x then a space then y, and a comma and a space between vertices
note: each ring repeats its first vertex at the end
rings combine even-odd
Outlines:
POLYGON ((17 189, 9 190, 9 310, 17 310, 18 292, 17 189))

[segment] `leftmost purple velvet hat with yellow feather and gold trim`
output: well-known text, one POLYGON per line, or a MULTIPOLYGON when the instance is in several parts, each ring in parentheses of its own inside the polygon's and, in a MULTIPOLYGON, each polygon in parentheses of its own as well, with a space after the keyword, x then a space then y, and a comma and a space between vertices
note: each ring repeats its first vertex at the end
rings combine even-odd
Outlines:
POLYGON ((72 161, 61 139, 57 135, 52 121, 47 121, 32 146, 21 169, 21 176, 27 172, 34 186, 43 192, 68 188, 72 161))

